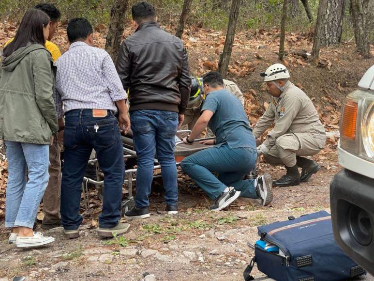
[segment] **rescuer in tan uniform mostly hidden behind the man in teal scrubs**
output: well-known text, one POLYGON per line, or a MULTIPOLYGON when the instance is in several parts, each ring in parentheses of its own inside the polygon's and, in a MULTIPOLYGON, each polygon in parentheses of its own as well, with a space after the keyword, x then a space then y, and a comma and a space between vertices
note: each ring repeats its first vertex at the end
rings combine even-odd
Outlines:
MULTIPOLYGON (((192 77, 190 100, 187 109, 184 113, 183 125, 187 125, 189 130, 192 130, 197 119, 200 117, 201 106, 204 102, 203 79, 192 77)), ((224 89, 234 94, 244 107, 244 97, 237 84, 233 81, 224 79, 224 89)), ((213 137, 213 132, 207 128, 207 138, 213 137)))

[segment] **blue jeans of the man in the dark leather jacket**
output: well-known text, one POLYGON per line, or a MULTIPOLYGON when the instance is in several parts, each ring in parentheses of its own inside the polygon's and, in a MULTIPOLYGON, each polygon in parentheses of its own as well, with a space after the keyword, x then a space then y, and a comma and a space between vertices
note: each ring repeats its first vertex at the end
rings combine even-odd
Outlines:
POLYGON ((137 155, 135 205, 139 208, 150 204, 150 185, 153 179, 155 152, 161 164, 165 188, 165 203, 178 203, 177 166, 174 158, 175 134, 178 129, 178 113, 163 110, 142 109, 132 111, 131 129, 137 155))

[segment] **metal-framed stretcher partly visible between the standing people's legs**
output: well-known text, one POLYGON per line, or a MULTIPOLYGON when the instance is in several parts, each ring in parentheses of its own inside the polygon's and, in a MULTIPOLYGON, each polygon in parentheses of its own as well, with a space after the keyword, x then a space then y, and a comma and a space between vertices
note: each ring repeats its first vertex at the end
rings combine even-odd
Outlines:
MULTIPOLYGON (((180 134, 187 134, 191 133, 191 130, 179 130, 177 131, 177 136, 180 134)), ((179 137, 176 136, 176 143, 175 143, 175 150, 174 155, 176 159, 177 167, 180 166, 180 162, 186 156, 192 155, 198 151, 203 149, 212 147, 213 145, 206 145, 198 143, 198 141, 206 141, 211 140, 214 138, 203 138, 195 140, 193 144, 185 144, 183 141, 180 140, 179 137)), ((126 169, 124 175, 124 184, 127 186, 127 197, 124 201, 122 201, 122 215, 134 207, 134 196, 133 196, 133 184, 136 180, 136 168, 134 168, 136 164, 136 152, 134 148, 134 141, 133 141, 133 134, 130 131, 126 136, 121 136, 122 143, 123 143, 123 158, 126 159, 126 169), (128 168, 129 169, 128 169, 128 168)), ((92 184, 95 186, 96 190, 98 191, 98 196, 102 200, 104 194, 104 173, 100 170, 99 162, 97 158, 93 155, 93 158, 89 160, 89 165, 94 165, 95 167, 95 178, 91 178, 89 176, 85 176, 82 182, 82 191, 83 191, 83 198, 84 198, 84 208, 86 210, 89 209, 89 192, 88 192, 88 185, 92 184)), ((154 167, 153 170, 161 169, 161 165, 157 160, 157 156, 154 159, 154 167)), ((182 171, 178 171, 181 173, 182 171)), ((154 174, 153 178, 161 177, 161 173, 154 174)))

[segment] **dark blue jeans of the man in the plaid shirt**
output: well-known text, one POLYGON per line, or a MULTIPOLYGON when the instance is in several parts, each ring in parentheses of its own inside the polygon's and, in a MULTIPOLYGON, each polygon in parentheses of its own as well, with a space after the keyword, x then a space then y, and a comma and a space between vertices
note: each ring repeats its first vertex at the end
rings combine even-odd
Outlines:
POLYGON ((63 227, 75 230, 82 223, 79 215, 81 184, 92 149, 96 151, 100 169, 104 172, 104 200, 99 225, 103 228, 115 227, 121 218, 124 179, 123 144, 117 119, 110 110, 107 110, 106 117, 93 117, 92 109, 66 112, 64 146, 61 181, 63 227))

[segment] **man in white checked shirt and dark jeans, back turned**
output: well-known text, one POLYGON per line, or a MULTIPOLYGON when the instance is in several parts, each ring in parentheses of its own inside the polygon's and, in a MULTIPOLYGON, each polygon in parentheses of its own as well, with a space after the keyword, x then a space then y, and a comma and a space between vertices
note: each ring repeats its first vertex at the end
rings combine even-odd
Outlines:
MULTIPOLYGON (((56 91, 65 111, 61 219, 68 238, 79 236, 81 184, 92 149, 105 183, 98 234, 113 237, 129 228, 129 224, 119 222, 124 180, 120 129, 125 133, 130 129, 126 93, 109 54, 92 47, 92 32, 87 19, 70 20, 67 34, 71 45, 57 61, 56 91), (116 105, 118 120, 114 116, 116 105)), ((59 103, 60 114, 61 107, 59 103)))

